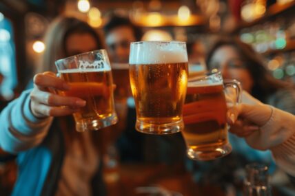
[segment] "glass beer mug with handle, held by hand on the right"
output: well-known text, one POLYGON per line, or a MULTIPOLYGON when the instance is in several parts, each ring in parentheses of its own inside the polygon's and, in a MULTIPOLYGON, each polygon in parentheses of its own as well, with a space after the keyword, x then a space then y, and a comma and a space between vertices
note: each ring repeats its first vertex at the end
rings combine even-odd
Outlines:
POLYGON ((232 151, 227 138, 227 91, 230 92, 227 98, 232 100, 231 104, 241 100, 240 83, 223 81, 220 72, 188 80, 182 134, 187 156, 192 160, 213 160, 232 151))

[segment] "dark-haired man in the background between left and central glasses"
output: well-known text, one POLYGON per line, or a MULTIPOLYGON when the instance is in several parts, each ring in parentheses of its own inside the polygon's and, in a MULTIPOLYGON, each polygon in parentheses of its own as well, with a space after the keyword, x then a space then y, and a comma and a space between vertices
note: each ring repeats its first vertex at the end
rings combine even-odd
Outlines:
MULTIPOLYGON (((129 67, 129 53, 130 43, 141 40, 141 29, 136 27, 130 19, 121 17, 116 14, 111 14, 110 19, 103 27, 105 34, 105 43, 107 45, 108 54, 110 55, 110 61, 112 67, 120 68, 118 66, 129 67), (116 65, 114 65, 116 64, 116 65)), ((114 73, 114 69, 112 70, 114 73)), ((128 69, 129 73, 129 69, 128 69)), ((129 74, 128 76, 121 74, 120 76, 114 76, 114 83, 123 83, 128 80, 128 86, 130 85, 129 74), (122 78, 126 77, 126 78, 122 78), (128 77, 128 78, 127 78, 128 77)), ((118 84, 122 85, 122 84, 118 84)), ((120 88, 120 87, 119 87, 120 88)), ((130 88, 130 87, 129 87, 130 88)), ((125 94, 127 95, 127 94, 125 94)), ((125 122, 123 132, 119 135, 119 139, 116 141, 116 149, 119 153, 121 162, 141 162, 143 161, 143 138, 144 135, 135 131, 136 111, 135 104, 132 98, 126 98, 127 102, 121 102, 114 96, 116 112, 121 113, 119 116, 119 122, 125 122)))

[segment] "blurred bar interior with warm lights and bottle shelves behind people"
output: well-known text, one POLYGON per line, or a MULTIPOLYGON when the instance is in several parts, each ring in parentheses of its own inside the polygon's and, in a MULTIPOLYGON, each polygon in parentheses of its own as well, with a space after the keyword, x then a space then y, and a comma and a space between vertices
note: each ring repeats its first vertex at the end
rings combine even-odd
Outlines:
POLYGON ((143 28, 143 40, 201 41, 207 50, 220 34, 239 36, 263 54, 275 78, 294 82, 294 10, 295 2, 288 0, 2 0, 1 95, 10 100, 26 87, 52 19, 77 17, 101 33, 111 12, 143 28))

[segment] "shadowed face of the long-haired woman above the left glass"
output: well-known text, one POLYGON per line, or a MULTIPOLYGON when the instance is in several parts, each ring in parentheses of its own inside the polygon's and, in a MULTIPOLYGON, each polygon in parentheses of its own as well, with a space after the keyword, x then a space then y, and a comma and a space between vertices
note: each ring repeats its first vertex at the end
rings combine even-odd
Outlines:
POLYGON ((70 34, 65 41, 65 47, 67 56, 74 56, 76 54, 99 49, 94 37, 88 33, 70 34))

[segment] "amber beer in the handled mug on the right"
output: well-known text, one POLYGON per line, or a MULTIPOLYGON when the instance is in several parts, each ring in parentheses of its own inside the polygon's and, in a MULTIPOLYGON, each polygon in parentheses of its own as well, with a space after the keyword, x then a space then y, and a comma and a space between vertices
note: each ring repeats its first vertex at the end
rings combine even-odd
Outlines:
POLYGON ((226 111, 223 84, 187 87, 183 137, 189 157, 212 160, 225 154, 217 149, 228 144, 226 111))

